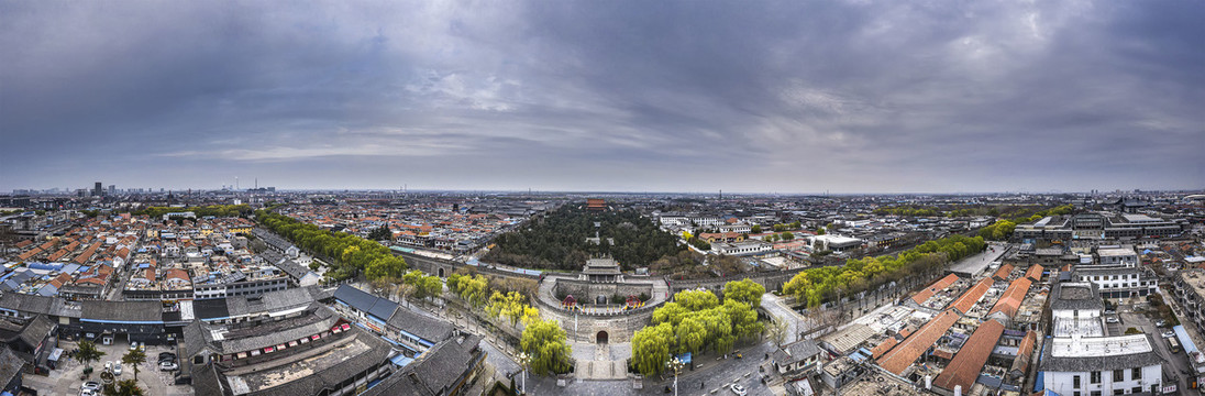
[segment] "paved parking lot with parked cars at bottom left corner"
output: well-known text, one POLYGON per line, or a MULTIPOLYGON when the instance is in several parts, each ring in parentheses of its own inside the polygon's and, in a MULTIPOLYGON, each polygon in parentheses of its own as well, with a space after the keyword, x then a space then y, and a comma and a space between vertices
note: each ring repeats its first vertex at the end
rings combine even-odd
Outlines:
MULTIPOLYGON (((64 350, 76 349, 76 343, 70 340, 59 342, 59 348, 64 350)), ((112 345, 96 344, 100 351, 105 353, 100 357, 100 361, 93 362, 93 373, 87 380, 100 382, 100 373, 105 371, 105 362, 112 361, 114 365, 122 361, 122 356, 130 351, 129 343, 114 343, 112 345)), ((147 395, 193 395, 192 386, 188 385, 175 385, 174 372, 161 372, 159 371, 158 357, 159 353, 175 353, 174 346, 167 345, 148 345, 143 350, 147 355, 147 361, 139 365, 139 386, 146 390, 147 395)), ((51 372, 49 375, 25 375, 25 386, 33 388, 41 395, 80 395, 81 386, 84 380, 81 379, 83 374, 83 363, 74 359, 64 359, 59 362, 58 369, 51 372)), ((122 375, 117 379, 134 379, 134 367, 130 365, 122 366, 122 375)))

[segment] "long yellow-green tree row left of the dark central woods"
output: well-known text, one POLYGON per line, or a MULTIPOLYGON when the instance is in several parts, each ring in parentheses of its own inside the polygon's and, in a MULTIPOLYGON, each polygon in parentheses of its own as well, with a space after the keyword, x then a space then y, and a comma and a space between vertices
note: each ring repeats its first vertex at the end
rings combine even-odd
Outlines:
POLYGON ((331 268, 327 270, 329 280, 351 279, 360 270, 369 280, 396 279, 408 268, 405 258, 394 256, 389 248, 372 240, 330 232, 266 210, 257 211, 255 219, 301 249, 331 260, 331 268))

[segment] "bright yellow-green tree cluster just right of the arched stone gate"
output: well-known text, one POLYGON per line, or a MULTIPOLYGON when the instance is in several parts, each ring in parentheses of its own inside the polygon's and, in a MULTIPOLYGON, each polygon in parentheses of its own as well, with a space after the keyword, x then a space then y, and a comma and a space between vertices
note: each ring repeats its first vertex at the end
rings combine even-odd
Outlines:
POLYGON ((765 287, 745 279, 724 285, 724 299, 706 290, 686 290, 674 302, 653 311, 653 325, 631 339, 631 362, 645 375, 665 369, 671 354, 713 350, 727 354, 739 339, 762 334, 765 324, 757 320, 765 287))

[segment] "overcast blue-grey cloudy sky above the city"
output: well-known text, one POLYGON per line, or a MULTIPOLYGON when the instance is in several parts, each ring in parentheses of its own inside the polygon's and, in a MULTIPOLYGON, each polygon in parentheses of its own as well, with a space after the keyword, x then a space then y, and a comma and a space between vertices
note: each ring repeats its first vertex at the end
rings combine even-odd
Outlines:
POLYGON ((0 191, 1205 186, 1200 1, 0 1, 0 191))

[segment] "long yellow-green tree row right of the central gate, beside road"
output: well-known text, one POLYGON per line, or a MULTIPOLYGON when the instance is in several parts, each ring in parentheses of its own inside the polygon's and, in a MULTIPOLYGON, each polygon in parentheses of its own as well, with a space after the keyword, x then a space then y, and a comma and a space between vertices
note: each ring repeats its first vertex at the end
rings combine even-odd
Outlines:
POLYGON ((983 237, 956 234, 927 241, 894 257, 850 258, 841 267, 806 269, 783 285, 783 293, 793 295, 813 308, 825 299, 872 290, 906 276, 930 276, 941 272, 947 262, 962 260, 986 248, 983 237))

